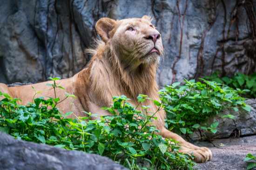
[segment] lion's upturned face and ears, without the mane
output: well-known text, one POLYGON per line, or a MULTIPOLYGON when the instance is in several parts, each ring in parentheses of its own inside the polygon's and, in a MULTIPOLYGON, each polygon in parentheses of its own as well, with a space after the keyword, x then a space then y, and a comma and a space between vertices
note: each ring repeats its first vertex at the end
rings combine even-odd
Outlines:
POLYGON ((141 64, 156 64, 163 51, 160 33, 148 16, 124 20, 102 18, 96 24, 101 39, 112 52, 126 63, 136 68, 141 64))

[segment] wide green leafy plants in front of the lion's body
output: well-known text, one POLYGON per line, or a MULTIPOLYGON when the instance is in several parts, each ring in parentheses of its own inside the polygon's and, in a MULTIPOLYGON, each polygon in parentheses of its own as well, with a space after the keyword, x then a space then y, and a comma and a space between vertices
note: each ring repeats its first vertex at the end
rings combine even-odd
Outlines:
MULTIPOLYGON (((60 78, 50 79, 53 84, 47 84, 52 86, 48 90, 64 89, 55 82, 60 78)), ((131 170, 140 169, 145 161, 148 167, 142 169, 192 170, 193 166, 196 167, 191 160, 193 153, 179 153, 181 145, 177 141, 156 134, 159 131, 152 124, 157 119, 155 113, 147 111, 151 106, 141 106, 148 96, 138 96, 136 107, 125 96, 113 97, 113 106, 103 108, 113 115, 101 119, 86 111, 83 112, 87 116, 77 117, 72 108, 61 114, 56 106, 66 99, 75 98, 68 93, 63 100, 55 93, 54 98, 35 98, 34 103, 26 106, 18 105, 19 99, 8 94, 0 92, 0 97, 5 97, 0 101, 0 131, 14 138, 107 156, 131 170), (136 110, 139 106, 146 114, 136 110), (68 117, 72 114, 76 118, 68 117)), ((164 107, 159 104, 157 111, 164 107)))

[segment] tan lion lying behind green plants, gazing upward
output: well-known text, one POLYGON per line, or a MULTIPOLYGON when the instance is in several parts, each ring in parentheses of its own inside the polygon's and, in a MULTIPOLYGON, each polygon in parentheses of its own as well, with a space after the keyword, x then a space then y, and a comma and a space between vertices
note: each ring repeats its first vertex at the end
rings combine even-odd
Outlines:
MULTIPOLYGON (((112 103, 113 96, 125 95, 131 99, 132 105, 137 105, 139 94, 148 95, 160 102, 158 85, 155 80, 157 65, 163 52, 160 33, 151 23, 149 16, 124 20, 101 18, 96 23, 96 31, 100 35, 97 46, 88 49, 93 55, 88 68, 75 74, 72 78, 58 80, 57 84, 74 94, 72 111, 77 116, 87 116, 81 111, 107 116, 111 113, 102 110, 112 103)), ((47 89, 46 83, 34 84, 36 90, 47 89)), ((32 102, 35 94, 31 85, 10 87, 0 84, 0 92, 11 94, 13 98, 20 98, 22 102, 32 102)), ((64 90, 57 88, 56 94, 64 98, 64 90)), ((44 91, 39 96, 54 97, 53 91, 44 91)), ((143 105, 152 105, 148 111, 155 112, 158 108, 151 100, 143 105)), ((62 111, 70 111, 70 102, 64 100, 58 107, 62 111)), ((194 153, 195 162, 203 163, 212 158, 211 150, 198 147, 186 142, 179 135, 168 131, 164 125, 166 113, 160 110, 153 121, 161 131, 162 137, 172 138, 182 144, 180 152, 194 153)))

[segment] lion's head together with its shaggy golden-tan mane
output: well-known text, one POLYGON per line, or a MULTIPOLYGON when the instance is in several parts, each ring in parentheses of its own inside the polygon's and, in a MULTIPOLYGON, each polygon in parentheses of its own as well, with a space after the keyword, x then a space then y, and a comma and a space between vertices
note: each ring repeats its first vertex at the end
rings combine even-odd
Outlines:
MULTIPOLYGON (((113 96, 125 95, 132 105, 138 105, 139 94, 159 100, 155 74, 163 47, 161 35, 151 21, 148 16, 98 20, 96 31, 102 40, 96 40, 96 46, 86 50, 93 55, 88 70, 89 96, 97 97, 94 103, 105 107, 113 96)), ((148 109, 151 112, 158 109, 151 100, 143 105, 152 105, 148 109)), ((155 124, 164 124, 165 112, 159 111, 156 116, 155 124)))

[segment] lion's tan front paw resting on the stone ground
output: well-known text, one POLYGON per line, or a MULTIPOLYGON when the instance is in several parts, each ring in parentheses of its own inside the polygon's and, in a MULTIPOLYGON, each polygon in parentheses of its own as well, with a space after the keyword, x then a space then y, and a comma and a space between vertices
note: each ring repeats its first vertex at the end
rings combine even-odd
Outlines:
POLYGON ((204 163, 206 161, 209 161, 212 158, 212 152, 208 148, 200 147, 196 150, 191 150, 190 153, 194 153, 195 159, 194 161, 196 163, 204 163))

